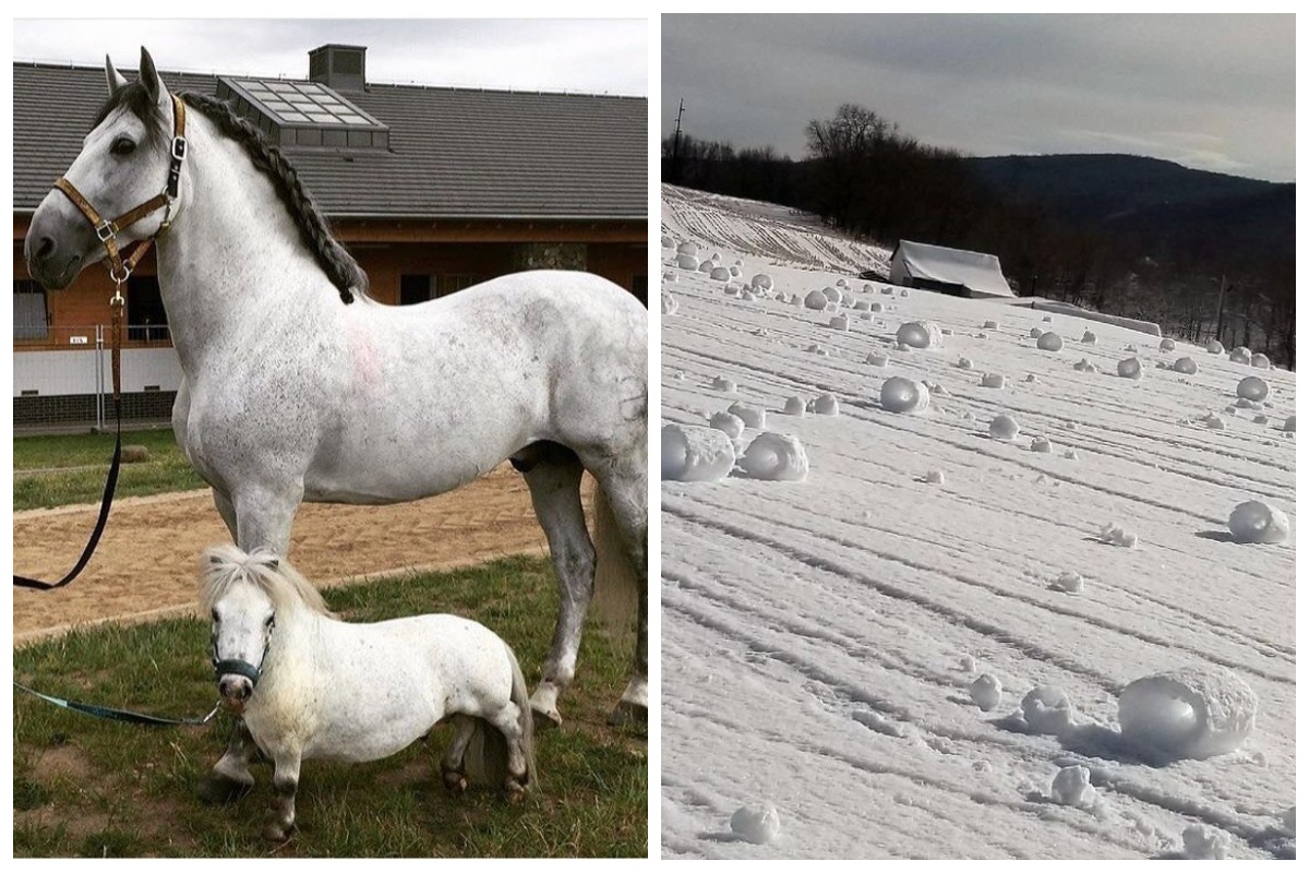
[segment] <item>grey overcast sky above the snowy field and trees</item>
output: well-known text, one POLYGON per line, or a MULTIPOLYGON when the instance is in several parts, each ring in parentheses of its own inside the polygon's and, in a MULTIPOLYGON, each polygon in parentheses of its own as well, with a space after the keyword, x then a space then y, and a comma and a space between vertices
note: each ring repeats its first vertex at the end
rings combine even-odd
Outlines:
POLYGON ((661 130, 804 157, 860 103, 969 154, 1295 181, 1295 16, 662 16, 661 130))

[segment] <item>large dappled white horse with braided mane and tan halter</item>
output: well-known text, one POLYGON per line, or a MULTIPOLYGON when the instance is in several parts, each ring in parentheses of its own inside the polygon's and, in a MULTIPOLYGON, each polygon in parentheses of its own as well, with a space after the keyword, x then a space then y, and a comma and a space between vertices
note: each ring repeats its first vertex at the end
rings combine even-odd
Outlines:
MULTIPOLYGON (((171 96, 144 48, 137 81, 107 58, 105 73, 109 99, 81 154, 31 219, 27 270, 58 289, 107 254, 123 277, 135 262, 120 251, 154 238, 185 376, 173 429, 236 543, 285 555, 305 500, 415 500, 508 458, 526 476, 559 576, 533 709, 559 722, 592 593, 609 586, 637 605, 634 670, 617 712, 644 717, 640 302, 589 274, 538 271, 427 304, 378 304, 285 157, 251 124, 216 98, 171 96), (600 486, 594 547, 584 470, 600 486)), ((242 729, 228 757, 250 754, 242 729)))

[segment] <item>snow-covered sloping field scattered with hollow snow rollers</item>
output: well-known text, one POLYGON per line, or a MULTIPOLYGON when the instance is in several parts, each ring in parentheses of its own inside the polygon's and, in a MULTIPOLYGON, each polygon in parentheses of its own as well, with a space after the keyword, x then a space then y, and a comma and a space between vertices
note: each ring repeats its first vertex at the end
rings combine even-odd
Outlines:
POLYGON ((1293 857, 1295 376, 662 220, 662 856, 1293 857))

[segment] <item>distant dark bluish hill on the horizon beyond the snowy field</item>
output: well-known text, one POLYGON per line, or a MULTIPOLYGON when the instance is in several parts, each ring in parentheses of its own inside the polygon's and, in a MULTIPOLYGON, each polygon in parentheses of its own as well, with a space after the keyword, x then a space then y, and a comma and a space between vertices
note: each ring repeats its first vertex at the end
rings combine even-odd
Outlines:
POLYGON ((1295 183, 1192 170, 1130 154, 966 158, 997 196, 1080 228, 1220 259, 1293 257, 1295 183))

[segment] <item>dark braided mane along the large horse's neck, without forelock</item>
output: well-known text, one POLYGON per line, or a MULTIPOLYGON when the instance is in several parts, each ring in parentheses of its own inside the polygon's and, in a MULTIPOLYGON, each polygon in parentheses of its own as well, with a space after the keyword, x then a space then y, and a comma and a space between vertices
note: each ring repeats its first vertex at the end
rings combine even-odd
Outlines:
POLYGON ((318 266, 340 292, 343 302, 353 302, 352 289, 368 291, 368 276, 346 249, 331 236, 327 220, 314 205, 296 169, 276 145, 270 145, 259 128, 238 116, 232 107, 217 97, 186 92, 181 94, 187 106, 200 111, 213 122, 223 134, 241 145, 255 169, 268 177, 278 198, 287 204, 300 238, 314 254, 318 266))

